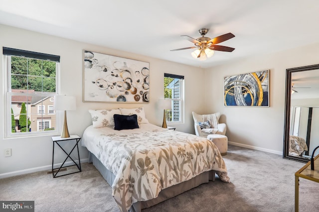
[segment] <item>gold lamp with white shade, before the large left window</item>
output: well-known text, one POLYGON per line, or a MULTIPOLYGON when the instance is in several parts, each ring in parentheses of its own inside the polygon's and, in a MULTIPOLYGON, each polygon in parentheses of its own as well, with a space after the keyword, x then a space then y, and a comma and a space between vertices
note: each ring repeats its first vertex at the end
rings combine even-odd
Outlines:
POLYGON ((54 96, 54 110, 64 110, 64 122, 61 132, 61 138, 70 137, 68 125, 66 122, 66 110, 76 110, 75 97, 71 96, 54 96))

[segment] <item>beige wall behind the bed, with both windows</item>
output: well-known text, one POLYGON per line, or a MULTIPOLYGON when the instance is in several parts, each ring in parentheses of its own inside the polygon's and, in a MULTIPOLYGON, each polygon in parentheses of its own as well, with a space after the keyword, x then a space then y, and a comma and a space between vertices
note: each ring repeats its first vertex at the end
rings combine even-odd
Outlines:
MULTIPOLYGON (((164 73, 185 76, 185 123, 174 125, 174 127, 179 131, 194 133, 191 112, 193 110, 198 112, 204 110, 204 94, 201 89, 204 78, 203 69, 5 25, 0 25, 0 32, 1 51, 2 46, 4 46, 61 56, 59 93, 61 95, 75 96, 77 104, 75 111, 68 111, 67 113, 68 128, 71 134, 82 136, 84 129, 92 123, 88 109, 144 106, 149 121, 160 126, 162 123, 162 111, 157 108, 157 101, 163 98, 164 73), (83 49, 149 62, 151 71, 150 103, 83 103, 83 49)), ((0 60, 0 67, 3 67, 2 63, 3 61, 0 60)), ((0 75, 0 82, 3 82, 3 74, 0 75)), ((0 87, 0 93, 3 93, 2 87, 0 87)), ((0 95, 0 102, 4 105, 3 95, 0 95)), ((59 114, 57 113, 57 115, 59 114)), ((63 117, 61 115, 59 117, 63 117)), ((4 117, 2 106, 0 107, 0 120, 3 120, 4 117)), ((62 118, 60 118, 61 120, 62 118)), ((3 126, 3 121, 0 121, 1 130, 4 128, 3 126)), ((52 163, 51 136, 3 139, 3 132, 1 131, 0 152, 0 177, 49 170, 52 163), (3 156, 5 148, 12 149, 11 157, 3 156)), ((55 156, 57 158, 55 161, 59 162, 63 162, 65 158, 64 153, 61 151, 56 152, 55 156)), ((80 158, 83 161, 88 158, 88 152, 85 148, 80 148, 80 158)))

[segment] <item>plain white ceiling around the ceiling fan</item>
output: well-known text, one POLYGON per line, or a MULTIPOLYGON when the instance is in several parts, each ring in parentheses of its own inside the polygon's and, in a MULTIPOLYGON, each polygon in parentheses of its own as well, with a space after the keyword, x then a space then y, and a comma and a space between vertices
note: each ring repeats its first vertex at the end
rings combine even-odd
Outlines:
POLYGON ((318 0, 0 0, 0 23, 72 40, 208 68, 319 42, 318 0), (206 61, 180 37, 228 32, 206 61))

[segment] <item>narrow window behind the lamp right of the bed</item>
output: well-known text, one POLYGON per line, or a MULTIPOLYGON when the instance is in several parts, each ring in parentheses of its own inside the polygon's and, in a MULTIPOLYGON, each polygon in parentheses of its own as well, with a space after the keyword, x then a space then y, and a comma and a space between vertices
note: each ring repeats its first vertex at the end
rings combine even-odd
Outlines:
POLYGON ((171 110, 165 111, 167 122, 183 122, 183 82, 184 76, 164 74, 164 98, 172 102, 171 110))

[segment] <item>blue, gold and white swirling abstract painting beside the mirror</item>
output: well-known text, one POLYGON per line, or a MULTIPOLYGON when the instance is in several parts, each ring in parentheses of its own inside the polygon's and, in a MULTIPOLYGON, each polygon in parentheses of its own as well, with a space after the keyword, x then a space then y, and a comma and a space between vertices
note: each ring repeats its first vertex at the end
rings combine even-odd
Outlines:
POLYGON ((269 70, 224 77, 224 106, 269 106, 269 70))

